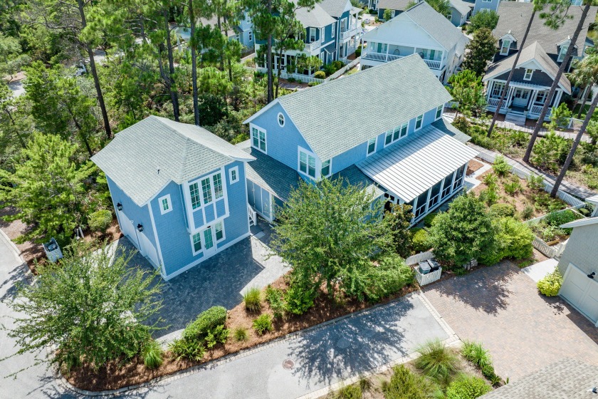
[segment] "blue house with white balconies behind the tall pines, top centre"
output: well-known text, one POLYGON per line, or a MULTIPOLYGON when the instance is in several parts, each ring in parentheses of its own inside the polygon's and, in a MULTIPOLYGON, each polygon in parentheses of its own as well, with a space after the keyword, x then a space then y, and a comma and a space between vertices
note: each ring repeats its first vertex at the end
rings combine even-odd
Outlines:
MULTIPOLYGON (((346 57, 355 53, 357 48, 357 33, 359 31, 357 16, 360 11, 362 10, 351 6, 350 0, 324 0, 315 4, 313 9, 302 7, 295 11, 296 19, 304 28, 300 36, 305 42, 305 48, 299 51, 285 51, 280 63, 283 70, 288 73, 312 76, 315 70, 296 68, 297 58, 303 55, 319 57, 322 65, 337 60, 346 63, 346 57)), ((265 44, 265 40, 258 40, 256 52, 265 44)), ((274 52, 274 68, 277 69, 279 57, 278 53, 274 52)), ((265 61, 265 55, 256 58, 259 68, 266 67, 265 61)))

